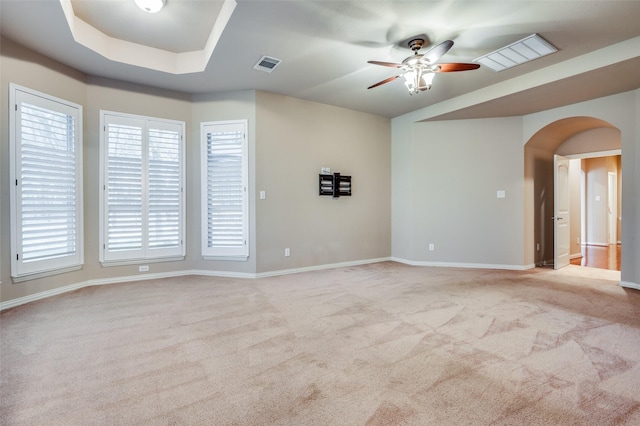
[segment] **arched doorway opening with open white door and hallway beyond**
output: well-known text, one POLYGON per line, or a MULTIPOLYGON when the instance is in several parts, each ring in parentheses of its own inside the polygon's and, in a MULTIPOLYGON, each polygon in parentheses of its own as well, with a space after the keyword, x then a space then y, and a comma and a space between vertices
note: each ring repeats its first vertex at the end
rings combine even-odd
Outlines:
MULTIPOLYGON (((568 251, 571 262, 566 264, 577 264, 584 259, 595 259, 598 254, 594 254, 593 250, 587 252, 592 244, 596 243, 604 248, 609 247, 610 235, 613 225, 607 220, 609 208, 609 191, 610 182, 613 182, 613 176, 610 178, 608 172, 616 174, 618 191, 616 191, 615 200, 617 211, 611 209, 611 215, 618 216, 620 209, 620 181, 621 167, 607 169, 604 168, 604 180, 600 183, 590 182, 592 180, 591 173, 584 170, 583 162, 586 161, 603 161, 597 158, 616 157, 621 158, 622 138, 620 130, 611 123, 600 120, 595 117, 576 116, 557 120, 535 133, 525 144, 525 183, 530 208, 527 208, 531 219, 531 234, 526 239, 527 255, 533 259, 535 266, 554 266, 557 252, 556 238, 556 221, 558 217, 564 218, 565 215, 559 215, 556 212, 556 186, 554 175, 557 175, 558 166, 554 163, 555 155, 560 155, 570 159, 571 163, 577 166, 572 167, 572 171, 568 172, 568 179, 571 182, 571 191, 569 195, 570 210, 566 213, 570 217, 569 224, 565 224, 563 229, 566 239, 564 246, 560 248, 568 251), (611 180, 609 180, 611 179, 611 180), (584 186, 581 182, 585 182, 584 186), (600 187, 602 185, 602 187, 600 187), (587 192, 587 196, 582 196, 581 187, 585 187, 585 191, 596 191, 599 194, 591 194, 587 192), (575 189, 574 189, 575 188, 575 189), (598 195, 599 201, 596 203, 595 196, 598 195), (596 220, 594 214, 602 216, 600 221, 596 220), (597 224, 597 225, 596 225, 597 224), (603 224, 603 225, 601 225, 603 224), (567 229, 568 228, 568 229, 567 229), (597 232, 596 232, 597 231, 597 232), (602 235, 603 236, 602 236, 602 235), (585 250, 583 250, 583 248, 585 250), (576 260, 577 259, 577 260, 576 260)), ((609 160, 606 160, 609 161, 609 160)), ((619 161, 619 160, 618 160, 619 161)), ((614 200, 612 199, 611 202, 614 200)), ((619 220, 618 220, 619 222, 619 220)), ((620 236, 620 224, 616 224, 617 235, 616 244, 613 248, 622 249, 620 236)), ((593 244, 595 245, 595 244, 593 244)), ((614 250, 614 256, 617 250, 614 250)), ((608 255, 608 253, 606 253, 608 255)), ((589 265, 591 266, 591 265, 589 265)), ((619 271, 619 268, 618 268, 619 271)))

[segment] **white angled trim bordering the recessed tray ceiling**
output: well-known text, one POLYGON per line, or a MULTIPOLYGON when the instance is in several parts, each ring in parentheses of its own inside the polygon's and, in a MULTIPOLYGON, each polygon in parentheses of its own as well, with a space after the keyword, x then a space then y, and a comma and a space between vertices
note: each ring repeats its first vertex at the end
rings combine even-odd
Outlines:
POLYGON ((101 56, 170 74, 189 74, 205 70, 237 3, 235 0, 224 0, 204 49, 179 53, 110 37, 76 16, 71 0, 60 0, 60 5, 74 40, 101 56))

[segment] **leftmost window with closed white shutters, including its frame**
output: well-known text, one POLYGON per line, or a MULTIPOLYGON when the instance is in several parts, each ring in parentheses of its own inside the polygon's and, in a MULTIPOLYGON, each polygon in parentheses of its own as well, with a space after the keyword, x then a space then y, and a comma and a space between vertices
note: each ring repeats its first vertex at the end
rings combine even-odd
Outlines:
POLYGON ((11 275, 77 269, 82 247, 82 106, 11 84, 11 275))

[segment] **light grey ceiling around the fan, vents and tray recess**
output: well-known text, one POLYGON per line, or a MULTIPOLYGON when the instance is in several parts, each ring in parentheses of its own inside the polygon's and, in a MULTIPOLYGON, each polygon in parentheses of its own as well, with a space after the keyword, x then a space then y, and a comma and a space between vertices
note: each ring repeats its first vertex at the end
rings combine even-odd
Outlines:
POLYGON ((386 117, 522 115, 640 87, 640 1, 167 0, 147 14, 133 0, 0 0, 0 19, 3 37, 89 75, 192 94, 256 89, 386 117), (79 30, 131 60, 97 53, 79 30), (440 62, 471 62, 533 33, 559 51, 502 72, 438 74, 413 96, 399 80, 367 90, 396 72, 367 61, 402 61, 412 52, 399 43, 412 36, 453 40, 440 62), (164 63, 153 69, 144 59, 155 54, 164 63), (257 71, 262 55, 282 62, 257 71))

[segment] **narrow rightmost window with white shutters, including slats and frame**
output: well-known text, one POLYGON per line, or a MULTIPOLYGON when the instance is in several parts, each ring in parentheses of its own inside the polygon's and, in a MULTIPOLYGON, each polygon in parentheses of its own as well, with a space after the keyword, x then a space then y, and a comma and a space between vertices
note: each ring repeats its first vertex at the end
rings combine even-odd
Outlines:
POLYGON ((249 232, 247 121, 201 124, 202 255, 246 260, 249 232))

